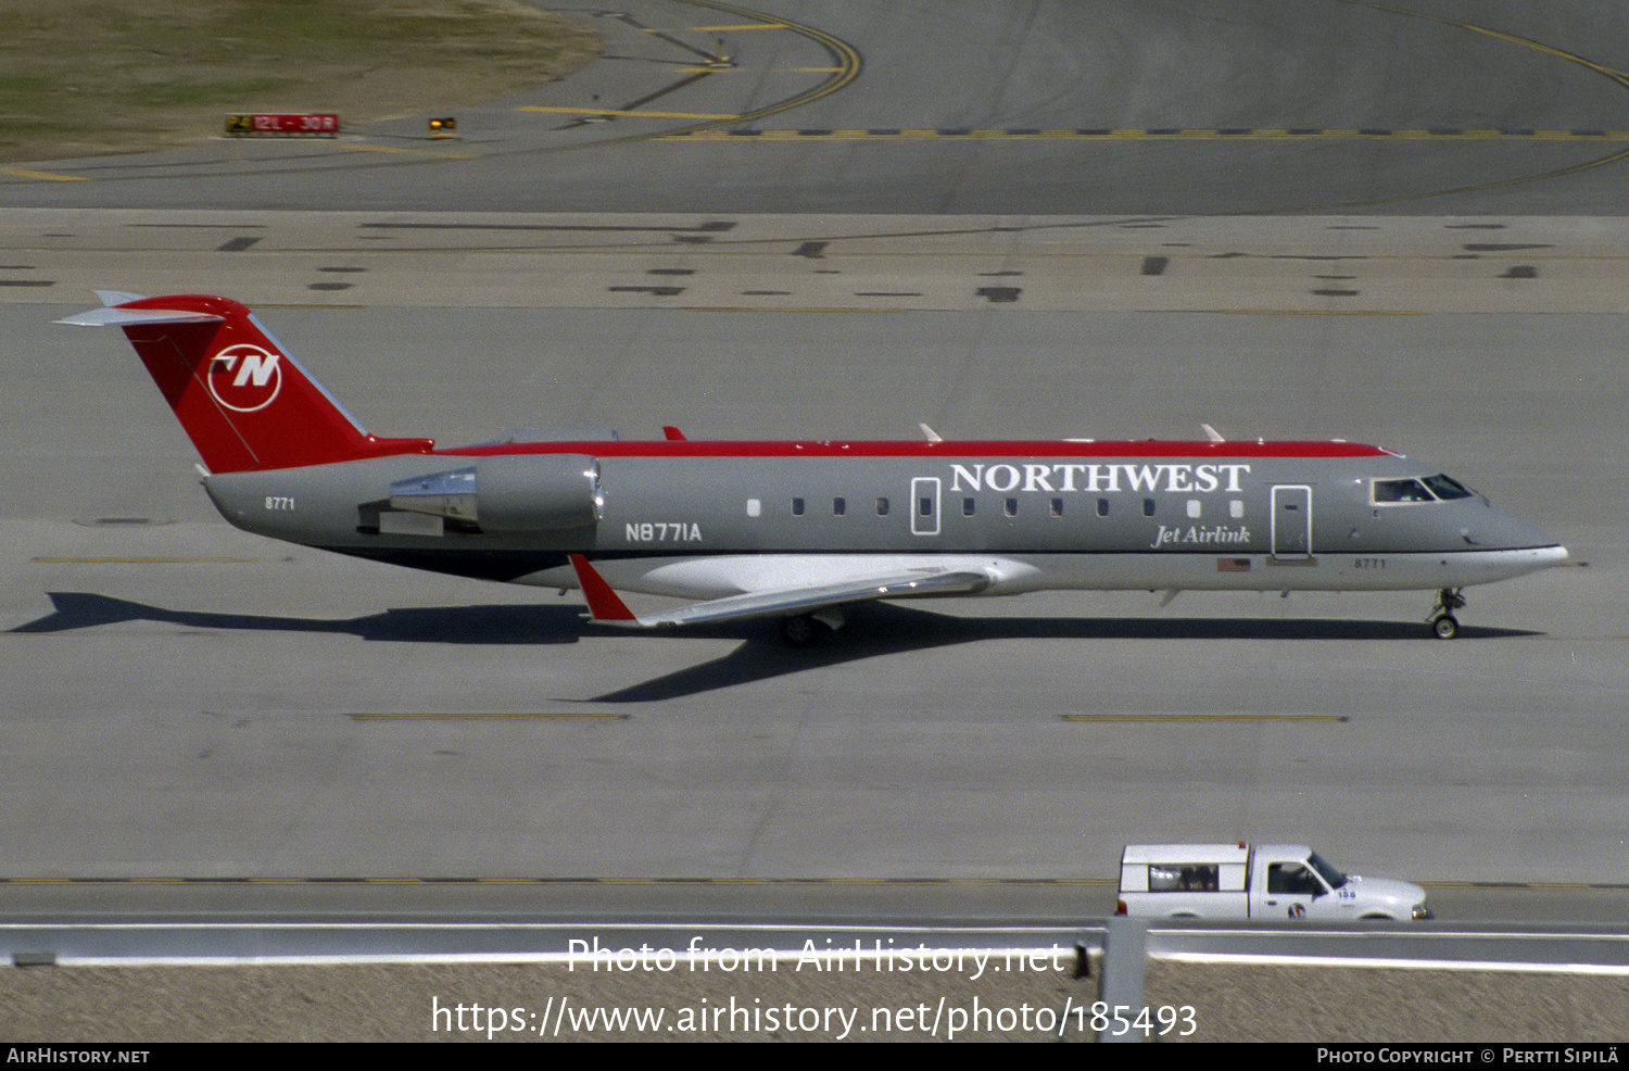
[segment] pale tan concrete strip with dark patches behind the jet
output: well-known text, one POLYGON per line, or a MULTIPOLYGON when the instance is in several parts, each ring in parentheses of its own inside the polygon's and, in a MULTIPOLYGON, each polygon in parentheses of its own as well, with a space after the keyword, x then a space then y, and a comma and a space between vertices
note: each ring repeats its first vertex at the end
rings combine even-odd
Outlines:
POLYGON ((0 303, 1618 313, 1629 218, 148 212, 0 215, 0 303))

